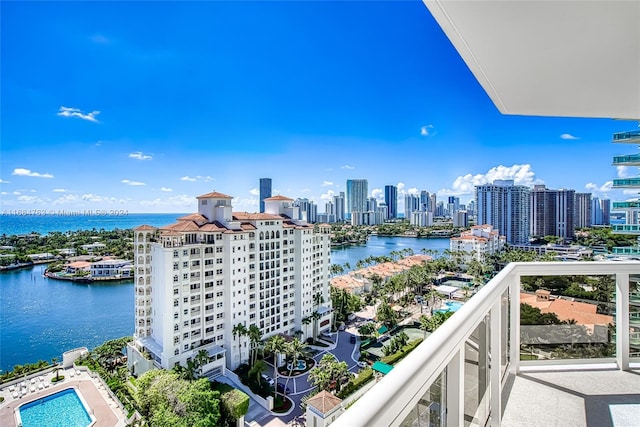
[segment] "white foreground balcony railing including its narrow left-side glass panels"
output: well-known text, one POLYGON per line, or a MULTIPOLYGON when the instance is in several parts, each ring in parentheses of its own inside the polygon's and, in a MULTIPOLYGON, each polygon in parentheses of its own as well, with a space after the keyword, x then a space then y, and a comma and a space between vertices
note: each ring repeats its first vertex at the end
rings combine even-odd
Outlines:
POLYGON ((635 337, 630 333, 629 288, 631 280, 634 288, 638 286, 638 275, 638 262, 511 263, 333 426, 500 426, 503 390, 508 393, 508 379, 524 366, 550 369, 555 364, 567 369, 572 364, 584 368, 589 363, 595 367, 607 362, 629 370, 631 337, 635 337), (608 342, 614 355, 606 359, 521 361, 520 292, 524 276, 614 277, 615 314, 610 327, 616 341, 608 342))

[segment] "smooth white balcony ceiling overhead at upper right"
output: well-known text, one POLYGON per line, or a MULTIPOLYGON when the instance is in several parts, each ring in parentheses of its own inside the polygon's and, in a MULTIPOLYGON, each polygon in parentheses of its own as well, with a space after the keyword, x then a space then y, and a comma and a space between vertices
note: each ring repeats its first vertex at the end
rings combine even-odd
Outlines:
POLYGON ((501 113, 640 119, 640 1, 423 1, 501 113))

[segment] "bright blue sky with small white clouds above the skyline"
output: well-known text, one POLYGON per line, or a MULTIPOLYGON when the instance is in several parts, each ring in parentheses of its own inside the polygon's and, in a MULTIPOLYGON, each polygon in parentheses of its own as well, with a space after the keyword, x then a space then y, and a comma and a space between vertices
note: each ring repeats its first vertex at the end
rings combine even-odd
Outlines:
POLYGON ((610 138, 635 123, 501 115, 420 1, 1 8, 5 213, 190 212, 212 190, 253 212, 261 177, 319 212, 349 178, 631 197, 610 138))

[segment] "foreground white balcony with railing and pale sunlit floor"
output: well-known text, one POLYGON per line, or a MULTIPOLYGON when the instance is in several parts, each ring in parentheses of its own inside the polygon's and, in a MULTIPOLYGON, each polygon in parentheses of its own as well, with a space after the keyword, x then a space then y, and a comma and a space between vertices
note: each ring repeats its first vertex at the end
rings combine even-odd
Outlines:
POLYGON ((637 425, 638 310, 630 295, 639 287, 640 262, 511 263, 332 425, 637 425), (586 323, 557 325, 559 330, 521 325, 525 276, 609 277, 609 323, 591 325, 589 333, 586 323), (593 341, 575 338, 578 330, 593 341), (566 351, 540 350, 560 342, 557 348, 566 351), (596 348, 607 351, 589 356, 596 348))

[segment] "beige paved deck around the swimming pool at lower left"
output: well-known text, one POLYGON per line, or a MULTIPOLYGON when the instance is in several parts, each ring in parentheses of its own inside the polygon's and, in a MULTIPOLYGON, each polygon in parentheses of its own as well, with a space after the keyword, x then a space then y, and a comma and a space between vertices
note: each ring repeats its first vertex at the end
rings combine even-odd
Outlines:
MULTIPOLYGON (((25 403, 38 400, 66 388, 75 388, 80 391, 82 397, 90 408, 90 412, 96 418, 95 427, 124 427, 126 426, 126 414, 120 406, 113 401, 104 385, 98 379, 93 379, 86 371, 80 371, 80 375, 70 376, 71 369, 60 371, 65 379, 58 384, 51 384, 53 373, 44 375, 44 382, 49 382, 50 386, 43 390, 36 389, 25 396, 14 399, 9 387, 5 386, 0 390, 0 396, 4 401, 0 403, 0 425, 3 427, 17 427, 15 410, 25 403)), ((35 377, 37 381, 38 377, 35 377)), ((36 383, 37 385, 37 383, 36 383)), ((31 384, 29 384, 31 386, 31 384)))

